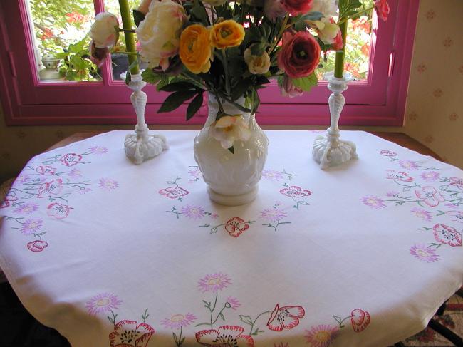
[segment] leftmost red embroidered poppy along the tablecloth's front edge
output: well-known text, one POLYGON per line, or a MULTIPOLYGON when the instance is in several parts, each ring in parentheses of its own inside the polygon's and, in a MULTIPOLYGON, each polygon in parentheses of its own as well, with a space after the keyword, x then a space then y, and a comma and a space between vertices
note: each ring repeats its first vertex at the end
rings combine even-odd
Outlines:
POLYGON ((155 329, 147 323, 120 321, 110 333, 109 343, 111 347, 146 347, 154 333, 155 329))

